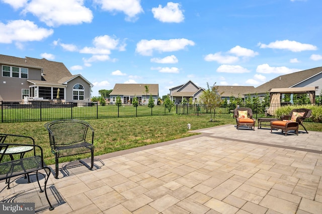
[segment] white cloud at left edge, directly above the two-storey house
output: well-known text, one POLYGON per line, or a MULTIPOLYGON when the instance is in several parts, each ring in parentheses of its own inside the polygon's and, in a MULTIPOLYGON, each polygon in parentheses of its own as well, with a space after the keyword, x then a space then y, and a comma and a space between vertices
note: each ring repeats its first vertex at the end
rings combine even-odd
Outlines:
POLYGON ((39 28, 28 20, 0 22, 0 43, 41 41, 54 33, 52 29, 39 28))

